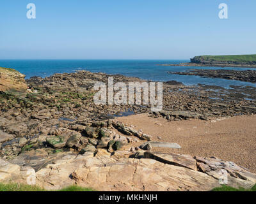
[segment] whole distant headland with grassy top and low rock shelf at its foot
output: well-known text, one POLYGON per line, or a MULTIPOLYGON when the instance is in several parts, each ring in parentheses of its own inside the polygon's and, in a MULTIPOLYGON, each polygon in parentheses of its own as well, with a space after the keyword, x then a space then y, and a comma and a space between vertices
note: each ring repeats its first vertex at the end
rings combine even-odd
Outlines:
POLYGON ((188 63, 160 64, 161 66, 214 66, 256 68, 256 54, 253 55, 202 55, 190 59, 188 63))

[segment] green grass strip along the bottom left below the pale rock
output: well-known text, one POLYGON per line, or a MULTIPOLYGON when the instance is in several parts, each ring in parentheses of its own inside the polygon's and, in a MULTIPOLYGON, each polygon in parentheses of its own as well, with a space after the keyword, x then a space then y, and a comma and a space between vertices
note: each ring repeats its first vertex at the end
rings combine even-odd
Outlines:
MULTIPOLYGON (((38 186, 29 186, 25 184, 1 184, 0 191, 46 191, 38 186)), ((58 191, 95 191, 92 188, 85 188, 79 186, 69 186, 58 191)))

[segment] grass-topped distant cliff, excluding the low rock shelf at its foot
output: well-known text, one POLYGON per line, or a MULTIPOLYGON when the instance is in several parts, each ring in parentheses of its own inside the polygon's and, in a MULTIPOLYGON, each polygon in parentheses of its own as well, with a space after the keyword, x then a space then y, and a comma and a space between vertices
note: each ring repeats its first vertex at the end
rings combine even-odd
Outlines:
POLYGON ((255 55, 202 55, 196 56, 191 59, 193 63, 205 63, 205 62, 232 62, 232 63, 252 63, 256 64, 255 55))

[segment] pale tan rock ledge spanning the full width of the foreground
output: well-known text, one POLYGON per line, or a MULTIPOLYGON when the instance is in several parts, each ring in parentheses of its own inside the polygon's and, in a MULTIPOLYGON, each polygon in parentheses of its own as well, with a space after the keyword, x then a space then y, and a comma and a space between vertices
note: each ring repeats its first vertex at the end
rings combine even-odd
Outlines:
MULTIPOLYGON (((255 185, 255 174, 217 158, 145 152, 137 159, 132 152, 116 153, 119 156, 104 149, 95 156, 63 152, 49 157, 36 171, 1 160, 0 182, 12 180, 51 190, 77 184, 98 191, 210 191, 221 184, 255 185)), ((37 161, 42 163, 42 157, 37 161)))

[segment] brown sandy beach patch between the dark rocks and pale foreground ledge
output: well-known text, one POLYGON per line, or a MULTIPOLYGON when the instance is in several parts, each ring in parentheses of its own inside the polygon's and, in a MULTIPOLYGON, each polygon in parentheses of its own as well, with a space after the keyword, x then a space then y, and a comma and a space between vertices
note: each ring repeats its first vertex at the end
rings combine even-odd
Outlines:
POLYGON ((142 129, 144 133, 153 136, 153 141, 175 142, 182 147, 153 147, 153 151, 216 156, 256 173, 256 115, 168 122, 166 119, 148 117, 148 114, 143 113, 117 120, 131 124, 135 129, 142 129))

